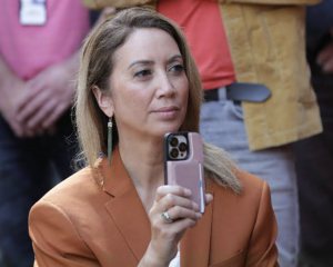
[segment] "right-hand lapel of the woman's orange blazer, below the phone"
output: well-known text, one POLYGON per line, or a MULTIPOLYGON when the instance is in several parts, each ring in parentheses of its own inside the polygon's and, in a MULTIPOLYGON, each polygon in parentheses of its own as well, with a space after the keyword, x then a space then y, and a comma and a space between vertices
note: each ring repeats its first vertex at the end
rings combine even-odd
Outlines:
POLYGON ((180 243, 181 267, 209 266, 212 216, 213 204, 210 204, 196 227, 185 231, 180 243))

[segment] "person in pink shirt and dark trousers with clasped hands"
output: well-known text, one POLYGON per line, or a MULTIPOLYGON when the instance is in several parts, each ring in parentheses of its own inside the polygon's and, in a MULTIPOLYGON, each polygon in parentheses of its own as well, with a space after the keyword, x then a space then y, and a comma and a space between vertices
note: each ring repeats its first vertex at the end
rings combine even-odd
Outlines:
POLYGON ((70 176, 77 152, 70 107, 77 51, 90 29, 79 0, 0 0, 1 267, 32 266, 31 206, 70 176), (74 137, 74 136, 73 136, 74 137), (74 139, 74 138, 73 138, 74 139))

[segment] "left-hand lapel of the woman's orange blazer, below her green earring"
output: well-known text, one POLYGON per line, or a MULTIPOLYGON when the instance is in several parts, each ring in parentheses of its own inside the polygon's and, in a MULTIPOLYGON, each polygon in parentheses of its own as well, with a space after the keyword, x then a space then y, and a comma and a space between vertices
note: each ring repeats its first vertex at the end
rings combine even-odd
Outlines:
POLYGON ((112 152, 111 166, 104 158, 101 167, 104 177, 103 190, 113 197, 104 207, 139 263, 151 238, 149 218, 118 148, 112 152))

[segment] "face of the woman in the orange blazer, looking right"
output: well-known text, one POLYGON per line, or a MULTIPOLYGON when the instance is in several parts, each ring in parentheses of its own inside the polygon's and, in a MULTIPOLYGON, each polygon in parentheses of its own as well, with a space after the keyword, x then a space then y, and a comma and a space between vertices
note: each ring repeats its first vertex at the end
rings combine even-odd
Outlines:
POLYGON ((189 82, 173 38, 160 29, 138 29, 114 53, 111 107, 121 137, 163 137, 178 131, 189 82))

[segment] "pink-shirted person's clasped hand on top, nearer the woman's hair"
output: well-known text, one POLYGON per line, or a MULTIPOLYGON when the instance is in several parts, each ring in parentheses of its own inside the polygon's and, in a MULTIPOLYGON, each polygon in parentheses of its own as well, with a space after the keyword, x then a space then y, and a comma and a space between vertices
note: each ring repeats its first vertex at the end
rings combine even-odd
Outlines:
POLYGON ((53 65, 27 82, 29 92, 19 101, 18 120, 33 132, 51 131, 73 100, 78 55, 53 65))

